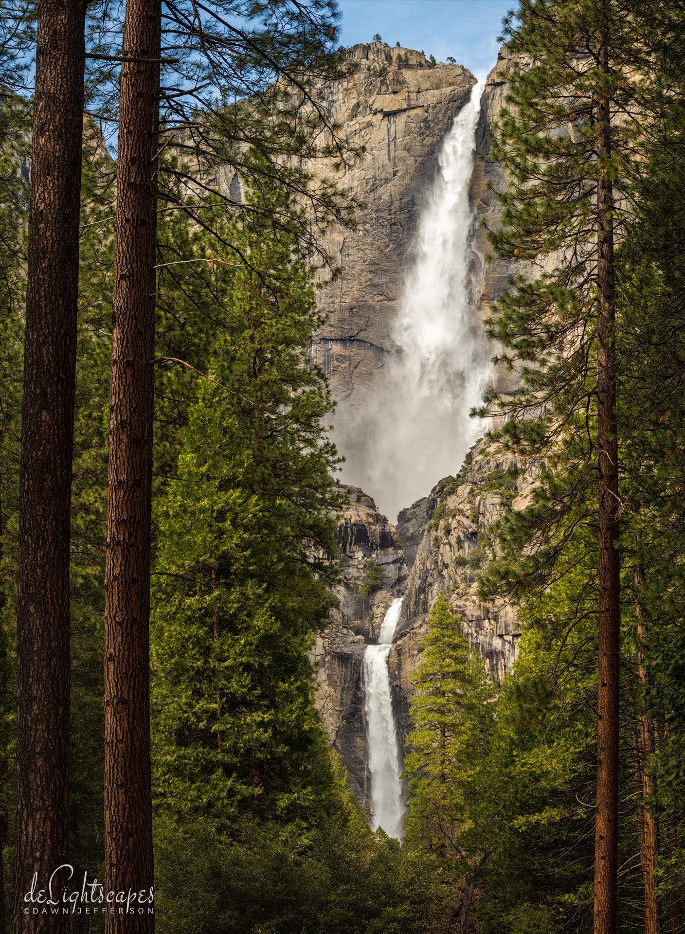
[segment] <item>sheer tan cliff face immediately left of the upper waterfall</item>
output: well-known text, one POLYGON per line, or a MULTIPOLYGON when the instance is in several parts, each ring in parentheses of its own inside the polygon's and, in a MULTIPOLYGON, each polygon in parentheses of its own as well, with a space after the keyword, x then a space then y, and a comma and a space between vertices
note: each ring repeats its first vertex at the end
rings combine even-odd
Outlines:
POLYGON ((319 97, 364 154, 338 184, 363 207, 355 231, 333 230, 325 246, 337 278, 321 292, 329 317, 312 348, 338 401, 338 428, 353 437, 354 409, 373 391, 392 351, 392 321, 421 198, 437 151, 476 78, 458 64, 432 64, 418 51, 380 42, 348 50, 349 78, 319 97))

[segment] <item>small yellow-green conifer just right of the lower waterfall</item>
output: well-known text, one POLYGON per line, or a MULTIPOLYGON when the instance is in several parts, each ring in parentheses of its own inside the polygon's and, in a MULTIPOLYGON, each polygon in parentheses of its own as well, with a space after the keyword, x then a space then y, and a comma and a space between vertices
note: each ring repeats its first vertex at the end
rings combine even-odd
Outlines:
POLYGON ((487 855, 474 833, 478 779, 487 762, 495 689, 441 593, 428 616, 421 661, 412 675, 407 840, 435 851, 461 888, 460 929, 467 929, 478 869, 487 855))

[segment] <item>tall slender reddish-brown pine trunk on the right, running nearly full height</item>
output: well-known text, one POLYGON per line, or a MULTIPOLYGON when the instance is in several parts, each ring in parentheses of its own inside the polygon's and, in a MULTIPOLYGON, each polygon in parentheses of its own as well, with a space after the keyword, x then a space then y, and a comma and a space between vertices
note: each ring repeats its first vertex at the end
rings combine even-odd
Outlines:
MULTIPOLYGON (((598 64, 609 73, 608 25, 598 64)), ((594 837, 594 934, 617 934, 619 846, 620 555, 619 445, 616 424, 614 199, 609 92, 597 102, 597 446, 599 468, 599 671, 597 799, 594 837)))

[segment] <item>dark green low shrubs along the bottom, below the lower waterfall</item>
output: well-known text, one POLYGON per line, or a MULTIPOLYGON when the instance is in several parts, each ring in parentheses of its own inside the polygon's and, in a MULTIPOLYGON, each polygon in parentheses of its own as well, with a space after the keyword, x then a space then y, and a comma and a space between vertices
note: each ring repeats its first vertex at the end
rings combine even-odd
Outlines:
POLYGON ((235 841, 166 824, 155 849, 170 934, 424 934, 437 901, 415 851, 339 824, 309 846, 273 824, 235 841))

